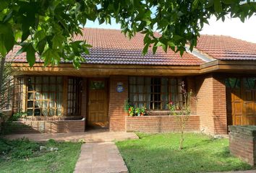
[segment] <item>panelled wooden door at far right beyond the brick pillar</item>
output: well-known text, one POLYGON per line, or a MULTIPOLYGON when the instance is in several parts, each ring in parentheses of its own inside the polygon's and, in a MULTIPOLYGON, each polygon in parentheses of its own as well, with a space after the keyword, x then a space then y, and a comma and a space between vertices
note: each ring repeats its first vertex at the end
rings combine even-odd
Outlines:
POLYGON ((226 86, 228 125, 256 125, 256 78, 229 78, 226 86))

